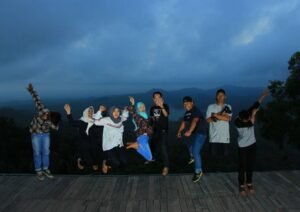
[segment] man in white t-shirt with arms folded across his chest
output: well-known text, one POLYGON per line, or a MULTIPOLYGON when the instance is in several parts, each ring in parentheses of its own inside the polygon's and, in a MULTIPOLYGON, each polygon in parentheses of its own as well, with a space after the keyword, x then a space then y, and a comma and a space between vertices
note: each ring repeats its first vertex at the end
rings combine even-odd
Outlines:
POLYGON ((206 120, 209 123, 209 143, 212 156, 227 156, 230 143, 229 121, 232 108, 225 104, 226 93, 223 89, 216 92, 216 103, 208 106, 206 120))

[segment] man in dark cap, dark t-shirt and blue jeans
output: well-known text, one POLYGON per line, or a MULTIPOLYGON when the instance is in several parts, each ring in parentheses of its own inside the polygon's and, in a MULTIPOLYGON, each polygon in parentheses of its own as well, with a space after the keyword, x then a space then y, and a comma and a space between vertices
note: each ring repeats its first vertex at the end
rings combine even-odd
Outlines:
POLYGON ((177 137, 181 138, 184 132, 183 136, 190 140, 195 160, 195 173, 192 181, 196 183, 203 175, 201 149, 207 137, 207 124, 201 111, 194 105, 193 99, 190 96, 183 98, 183 107, 186 112, 179 127, 177 137))

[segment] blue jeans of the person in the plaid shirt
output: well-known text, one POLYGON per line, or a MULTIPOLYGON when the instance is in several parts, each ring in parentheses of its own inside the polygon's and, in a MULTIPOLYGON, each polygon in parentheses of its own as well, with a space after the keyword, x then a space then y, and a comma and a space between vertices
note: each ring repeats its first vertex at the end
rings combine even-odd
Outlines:
POLYGON ((50 154, 50 134, 32 134, 31 144, 33 149, 33 161, 35 171, 48 169, 49 167, 49 154, 50 154))

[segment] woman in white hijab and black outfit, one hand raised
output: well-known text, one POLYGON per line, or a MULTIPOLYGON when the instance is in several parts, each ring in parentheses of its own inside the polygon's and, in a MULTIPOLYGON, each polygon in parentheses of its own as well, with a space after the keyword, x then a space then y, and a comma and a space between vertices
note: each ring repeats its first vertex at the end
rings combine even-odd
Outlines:
MULTIPOLYGON (((67 113, 67 118, 72 127, 78 128, 79 140, 77 143, 78 158, 77 167, 80 170, 85 168, 84 165, 92 167, 93 171, 98 170, 100 161, 101 146, 99 142, 99 131, 94 125, 94 108, 89 106, 83 111, 82 117, 79 120, 74 120, 71 113, 71 106, 66 104, 64 109, 67 113)), ((104 111, 104 109, 103 109, 104 111)))

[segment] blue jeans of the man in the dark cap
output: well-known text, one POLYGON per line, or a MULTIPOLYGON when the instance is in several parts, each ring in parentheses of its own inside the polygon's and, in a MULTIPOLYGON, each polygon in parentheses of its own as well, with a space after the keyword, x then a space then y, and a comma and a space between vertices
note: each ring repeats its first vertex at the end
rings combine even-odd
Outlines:
POLYGON ((201 149, 205 142, 206 135, 202 134, 194 134, 191 135, 191 147, 192 147, 192 154, 195 160, 195 173, 200 173, 202 171, 202 160, 201 160, 201 149))

